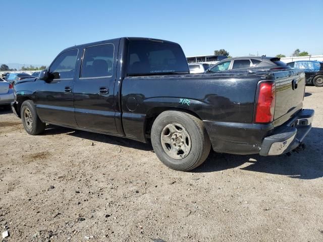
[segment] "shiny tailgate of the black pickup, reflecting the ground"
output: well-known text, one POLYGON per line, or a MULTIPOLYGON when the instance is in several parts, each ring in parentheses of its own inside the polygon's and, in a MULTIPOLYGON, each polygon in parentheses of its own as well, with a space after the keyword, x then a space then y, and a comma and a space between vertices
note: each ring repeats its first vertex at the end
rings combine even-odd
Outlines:
POLYGON ((274 76, 276 84, 274 125, 275 123, 280 125, 303 107, 305 74, 301 70, 292 70, 275 72, 274 76))

